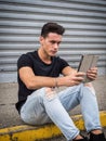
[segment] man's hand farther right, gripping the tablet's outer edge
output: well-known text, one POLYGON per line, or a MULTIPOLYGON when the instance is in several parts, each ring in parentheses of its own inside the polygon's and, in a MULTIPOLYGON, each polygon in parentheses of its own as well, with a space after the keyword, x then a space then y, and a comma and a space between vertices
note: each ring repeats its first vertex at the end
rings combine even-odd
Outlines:
POLYGON ((91 79, 91 80, 95 80, 97 77, 97 67, 92 67, 87 72, 87 76, 91 79))

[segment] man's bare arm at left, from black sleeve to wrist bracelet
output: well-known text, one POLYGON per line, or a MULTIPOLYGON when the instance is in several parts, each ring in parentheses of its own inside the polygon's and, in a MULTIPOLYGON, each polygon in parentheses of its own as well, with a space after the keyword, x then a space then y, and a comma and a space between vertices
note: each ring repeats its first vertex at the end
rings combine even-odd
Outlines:
POLYGON ((19 78, 28 89, 39 89, 42 87, 55 87, 53 77, 36 76, 29 66, 19 68, 19 78))

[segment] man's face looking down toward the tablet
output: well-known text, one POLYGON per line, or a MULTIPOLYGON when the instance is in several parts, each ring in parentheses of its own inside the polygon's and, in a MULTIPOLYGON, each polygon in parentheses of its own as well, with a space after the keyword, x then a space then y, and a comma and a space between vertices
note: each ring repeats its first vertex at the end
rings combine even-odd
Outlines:
POLYGON ((54 56, 58 51, 59 43, 62 41, 62 35, 50 33, 45 38, 40 37, 40 43, 43 52, 49 56, 54 56))

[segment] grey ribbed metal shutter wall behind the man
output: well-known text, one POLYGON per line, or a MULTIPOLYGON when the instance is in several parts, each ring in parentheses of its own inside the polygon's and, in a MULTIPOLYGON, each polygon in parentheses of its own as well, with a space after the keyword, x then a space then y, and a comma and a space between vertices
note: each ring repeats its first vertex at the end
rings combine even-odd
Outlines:
POLYGON ((81 54, 100 55, 100 75, 106 74, 106 1, 0 0, 0 81, 16 81, 22 53, 39 48, 47 22, 66 28, 58 54, 77 68, 81 54))

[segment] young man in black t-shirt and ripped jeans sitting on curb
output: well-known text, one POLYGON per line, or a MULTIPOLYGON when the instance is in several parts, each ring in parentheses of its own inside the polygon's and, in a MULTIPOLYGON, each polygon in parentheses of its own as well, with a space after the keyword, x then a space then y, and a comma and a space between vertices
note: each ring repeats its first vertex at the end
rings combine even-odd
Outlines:
MULTIPOLYGON (((83 85, 85 74, 78 73, 65 60, 56 56, 64 31, 64 27, 56 23, 45 24, 41 30, 40 48, 19 57, 16 108, 26 124, 36 126, 53 121, 67 140, 88 141, 68 114, 80 104, 90 141, 106 141, 93 86, 83 85), (63 76, 59 77, 59 74, 63 76), (55 91, 62 86, 67 88, 55 91)), ((97 68, 89 69, 87 75, 94 80, 97 68)))

